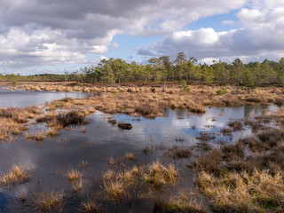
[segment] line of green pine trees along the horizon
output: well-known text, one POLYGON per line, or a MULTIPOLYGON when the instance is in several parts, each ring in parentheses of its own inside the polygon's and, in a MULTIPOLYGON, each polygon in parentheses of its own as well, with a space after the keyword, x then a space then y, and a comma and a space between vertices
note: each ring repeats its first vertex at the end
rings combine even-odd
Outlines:
POLYGON ((137 83, 185 80, 187 83, 237 83, 247 86, 284 83, 284 58, 279 62, 264 59, 244 64, 234 59, 231 64, 213 61, 211 65, 198 63, 195 58, 185 59, 179 52, 177 59, 170 56, 149 59, 146 65, 123 59, 102 59, 97 66, 83 67, 75 72, 65 71, 64 75, 1 75, 0 81, 51 81, 78 83, 137 83))

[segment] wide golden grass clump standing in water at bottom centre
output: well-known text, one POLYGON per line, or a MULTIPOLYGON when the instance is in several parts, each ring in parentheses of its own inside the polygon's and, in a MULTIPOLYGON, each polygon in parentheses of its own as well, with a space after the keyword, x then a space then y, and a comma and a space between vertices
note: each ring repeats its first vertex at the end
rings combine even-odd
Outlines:
POLYGON ((148 185, 162 190, 164 185, 174 184, 176 179, 177 170, 172 164, 164 166, 160 162, 154 162, 139 168, 134 166, 130 170, 107 170, 102 175, 101 187, 106 200, 121 201, 129 198, 131 192, 145 193, 145 190, 150 190, 148 185))

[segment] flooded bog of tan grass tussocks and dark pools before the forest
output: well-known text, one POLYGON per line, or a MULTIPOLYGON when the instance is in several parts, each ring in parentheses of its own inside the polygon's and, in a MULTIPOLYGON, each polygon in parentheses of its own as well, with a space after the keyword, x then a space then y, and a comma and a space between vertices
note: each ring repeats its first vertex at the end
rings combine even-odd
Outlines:
POLYGON ((282 89, 98 88, 1 108, 2 211, 284 212, 282 89))

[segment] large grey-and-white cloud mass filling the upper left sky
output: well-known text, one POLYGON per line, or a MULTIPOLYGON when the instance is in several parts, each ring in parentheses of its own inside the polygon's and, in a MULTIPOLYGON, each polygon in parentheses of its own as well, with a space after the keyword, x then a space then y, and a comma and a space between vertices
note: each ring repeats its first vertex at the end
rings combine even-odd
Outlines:
MULTIPOLYGON (((102 54, 116 34, 167 35, 213 14, 241 8, 247 0, 0 0, 1 67, 77 63, 102 54), (220 6, 222 5, 222 6, 220 6)), ((205 38, 211 43, 214 37, 205 38)), ((35 67, 33 67, 35 70, 35 67)))

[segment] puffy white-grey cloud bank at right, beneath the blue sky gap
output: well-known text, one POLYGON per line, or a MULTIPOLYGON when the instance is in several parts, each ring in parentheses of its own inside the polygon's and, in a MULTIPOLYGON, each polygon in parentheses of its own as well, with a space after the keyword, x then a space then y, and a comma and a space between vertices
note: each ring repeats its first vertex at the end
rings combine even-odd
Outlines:
MULTIPOLYGON (((159 54, 184 51, 201 61, 233 57, 244 60, 278 60, 284 56, 284 7, 273 9, 243 8, 237 13, 241 28, 217 32, 213 28, 177 31, 165 36, 151 48, 159 54)), ((232 24, 225 21, 225 24, 232 24)))

